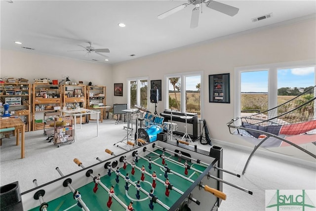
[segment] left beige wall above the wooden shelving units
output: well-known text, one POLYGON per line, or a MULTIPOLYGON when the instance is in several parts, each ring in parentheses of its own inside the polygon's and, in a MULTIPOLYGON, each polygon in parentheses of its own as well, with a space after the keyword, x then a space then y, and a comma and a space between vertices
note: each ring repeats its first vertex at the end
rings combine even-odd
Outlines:
POLYGON ((69 76, 73 82, 92 82, 92 85, 107 86, 107 104, 112 105, 112 67, 106 64, 75 59, 47 56, 36 53, 1 49, 0 76, 25 78, 33 84, 34 79, 63 80, 69 76))

